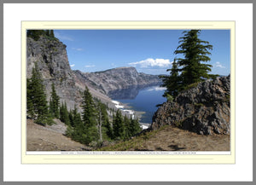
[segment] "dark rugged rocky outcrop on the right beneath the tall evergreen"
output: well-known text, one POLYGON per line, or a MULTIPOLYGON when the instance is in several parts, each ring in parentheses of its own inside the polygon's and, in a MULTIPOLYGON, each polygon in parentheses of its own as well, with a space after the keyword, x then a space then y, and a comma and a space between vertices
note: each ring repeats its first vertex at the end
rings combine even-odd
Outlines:
POLYGON ((151 129, 165 124, 201 135, 230 134, 230 76, 199 83, 165 102, 154 113, 151 129))

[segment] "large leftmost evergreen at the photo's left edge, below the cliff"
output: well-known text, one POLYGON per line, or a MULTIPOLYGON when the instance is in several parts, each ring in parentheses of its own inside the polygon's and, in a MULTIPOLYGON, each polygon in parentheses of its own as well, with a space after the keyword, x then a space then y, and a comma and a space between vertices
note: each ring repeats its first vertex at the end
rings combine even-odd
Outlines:
POLYGON ((32 78, 27 79, 27 113, 36 119, 38 124, 53 124, 44 90, 43 79, 37 63, 32 68, 32 78))

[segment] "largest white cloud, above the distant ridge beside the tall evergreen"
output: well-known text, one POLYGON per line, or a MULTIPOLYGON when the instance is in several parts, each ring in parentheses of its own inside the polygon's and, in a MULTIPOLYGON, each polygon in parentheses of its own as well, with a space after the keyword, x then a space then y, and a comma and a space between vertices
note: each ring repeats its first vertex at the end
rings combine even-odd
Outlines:
POLYGON ((172 62, 169 59, 152 59, 148 58, 144 61, 137 61, 137 62, 131 62, 129 65, 131 66, 137 66, 139 65, 140 67, 146 68, 148 66, 160 66, 160 67, 166 67, 170 66, 172 62))

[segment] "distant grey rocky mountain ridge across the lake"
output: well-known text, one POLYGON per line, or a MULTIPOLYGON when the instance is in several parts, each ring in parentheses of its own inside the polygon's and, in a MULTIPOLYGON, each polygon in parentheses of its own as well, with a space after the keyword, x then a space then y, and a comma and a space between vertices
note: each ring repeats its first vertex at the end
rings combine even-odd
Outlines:
POLYGON ((89 81, 92 86, 106 95, 110 95, 113 90, 122 90, 134 86, 145 87, 161 83, 158 76, 137 72, 134 67, 119 67, 102 72, 76 71, 75 73, 79 79, 89 81))

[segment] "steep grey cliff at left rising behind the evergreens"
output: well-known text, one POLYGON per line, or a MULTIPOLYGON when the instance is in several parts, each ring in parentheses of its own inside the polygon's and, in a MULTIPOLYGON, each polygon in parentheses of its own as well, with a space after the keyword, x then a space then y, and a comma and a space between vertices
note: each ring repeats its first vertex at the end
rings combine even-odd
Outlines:
POLYGON ((75 86, 73 71, 67 59, 66 45, 57 39, 41 37, 38 41, 26 39, 26 77, 32 75, 32 67, 37 62, 44 78, 46 94, 51 92, 51 84, 55 84, 56 93, 61 101, 67 102, 67 107, 74 107, 81 101, 79 89, 75 86))

